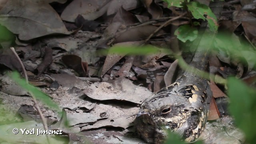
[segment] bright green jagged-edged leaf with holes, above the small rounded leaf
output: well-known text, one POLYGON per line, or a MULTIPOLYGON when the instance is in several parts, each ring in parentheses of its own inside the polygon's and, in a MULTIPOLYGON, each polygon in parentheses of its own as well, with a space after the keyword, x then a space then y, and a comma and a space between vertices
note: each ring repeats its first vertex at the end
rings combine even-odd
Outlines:
POLYGON ((190 4, 187 5, 188 10, 192 13, 194 18, 196 19, 203 19, 208 21, 209 28, 212 32, 215 32, 218 30, 218 21, 212 10, 209 8, 209 6, 206 6, 205 4, 200 4, 199 2, 190 2, 190 4), (206 18, 204 15, 207 15, 206 18))

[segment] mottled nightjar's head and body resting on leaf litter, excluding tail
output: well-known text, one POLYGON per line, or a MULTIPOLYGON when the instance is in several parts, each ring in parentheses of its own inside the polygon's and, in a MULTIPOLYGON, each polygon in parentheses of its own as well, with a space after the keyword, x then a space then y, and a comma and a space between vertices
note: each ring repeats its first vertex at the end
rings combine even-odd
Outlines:
POLYGON ((168 129, 192 142, 204 130, 211 98, 209 82, 185 72, 141 104, 136 130, 149 143, 162 144, 168 129))

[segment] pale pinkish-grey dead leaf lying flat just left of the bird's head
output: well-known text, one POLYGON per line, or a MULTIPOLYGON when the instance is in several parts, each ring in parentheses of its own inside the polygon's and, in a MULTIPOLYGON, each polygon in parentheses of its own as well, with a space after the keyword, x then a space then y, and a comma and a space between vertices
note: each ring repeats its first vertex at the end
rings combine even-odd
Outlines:
POLYGON ((84 94, 95 100, 125 100, 141 104, 152 95, 152 92, 142 86, 134 85, 126 78, 119 78, 111 81, 111 84, 95 82, 84 90, 84 94))

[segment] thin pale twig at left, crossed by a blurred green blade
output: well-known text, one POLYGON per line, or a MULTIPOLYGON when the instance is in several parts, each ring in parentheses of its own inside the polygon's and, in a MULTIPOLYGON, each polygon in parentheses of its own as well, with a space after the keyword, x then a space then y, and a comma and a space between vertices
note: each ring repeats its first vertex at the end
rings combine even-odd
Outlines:
MULTIPOLYGON (((18 54, 16 53, 14 47, 10 47, 10 49, 12 50, 12 52, 14 53, 14 55, 18 58, 18 60, 19 60, 19 62, 20 62, 20 65, 22 66, 22 72, 23 72, 23 74, 24 74, 24 76, 25 76, 26 83, 29 84, 29 83, 28 83, 28 75, 27 75, 27 73, 26 73, 26 69, 25 69, 25 67, 24 67, 24 65, 23 65, 23 63, 22 63, 22 61, 20 60, 20 57, 19 57, 18 54)), ((28 93, 31 95, 32 100, 33 100, 33 102, 34 102, 34 107, 36 108, 36 110, 37 110, 37 112, 38 112, 38 114, 39 114, 39 116, 40 116, 40 118, 41 118, 41 120, 42 120, 42 122, 43 122, 44 130, 47 130, 47 131, 48 131, 46 119, 45 119, 45 117, 43 116, 42 111, 41 111, 41 109, 40 109, 39 106, 38 106, 38 102, 36 101, 35 96, 34 96, 34 95, 32 94, 32 92, 30 92, 30 91, 28 91, 28 93)), ((47 138, 48 144, 50 144, 50 139, 49 139, 49 137, 48 137, 47 134, 46 134, 46 138, 47 138)))

